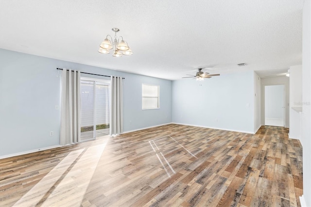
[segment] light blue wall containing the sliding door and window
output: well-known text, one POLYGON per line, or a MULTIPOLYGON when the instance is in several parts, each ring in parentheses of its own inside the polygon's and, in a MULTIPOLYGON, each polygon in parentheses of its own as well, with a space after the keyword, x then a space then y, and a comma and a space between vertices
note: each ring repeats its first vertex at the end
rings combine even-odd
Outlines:
POLYGON ((124 77, 124 131, 172 121, 172 81, 0 49, 0 156, 59 144, 56 68, 124 77), (160 109, 141 109, 142 83, 160 86, 160 109))

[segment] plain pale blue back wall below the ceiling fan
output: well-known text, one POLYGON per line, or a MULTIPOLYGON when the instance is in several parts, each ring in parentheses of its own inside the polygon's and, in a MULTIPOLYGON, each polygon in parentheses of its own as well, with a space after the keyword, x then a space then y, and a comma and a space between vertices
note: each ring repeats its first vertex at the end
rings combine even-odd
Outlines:
POLYGON ((172 93, 175 123, 254 132, 253 71, 174 81, 172 93))

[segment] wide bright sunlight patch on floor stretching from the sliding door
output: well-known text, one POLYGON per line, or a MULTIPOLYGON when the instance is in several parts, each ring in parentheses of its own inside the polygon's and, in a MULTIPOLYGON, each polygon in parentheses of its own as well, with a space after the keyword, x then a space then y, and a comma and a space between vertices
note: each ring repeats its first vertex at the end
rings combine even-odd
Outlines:
POLYGON ((80 206, 107 142, 70 152, 14 206, 80 206))

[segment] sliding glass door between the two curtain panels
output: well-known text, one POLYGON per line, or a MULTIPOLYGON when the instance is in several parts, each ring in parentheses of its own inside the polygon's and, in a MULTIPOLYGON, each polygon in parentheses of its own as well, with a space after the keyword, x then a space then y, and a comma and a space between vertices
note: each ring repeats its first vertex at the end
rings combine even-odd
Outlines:
POLYGON ((110 81, 81 79, 81 141, 109 135, 110 81))

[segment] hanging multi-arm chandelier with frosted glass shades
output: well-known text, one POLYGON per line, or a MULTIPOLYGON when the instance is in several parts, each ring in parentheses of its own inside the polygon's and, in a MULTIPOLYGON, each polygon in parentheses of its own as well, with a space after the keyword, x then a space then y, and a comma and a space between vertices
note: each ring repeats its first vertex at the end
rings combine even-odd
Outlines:
POLYGON ((108 54, 110 53, 109 50, 113 49, 112 56, 114 57, 122 57, 122 55, 133 54, 131 49, 128 47, 127 42, 123 40, 123 37, 120 36, 119 38, 117 38, 117 32, 119 32, 120 30, 118 28, 112 28, 112 31, 115 32, 115 39, 112 40, 112 37, 110 35, 107 35, 104 41, 100 44, 98 52, 108 54), (110 39, 108 39, 108 36, 111 38, 111 41, 110 39))

